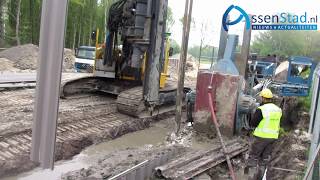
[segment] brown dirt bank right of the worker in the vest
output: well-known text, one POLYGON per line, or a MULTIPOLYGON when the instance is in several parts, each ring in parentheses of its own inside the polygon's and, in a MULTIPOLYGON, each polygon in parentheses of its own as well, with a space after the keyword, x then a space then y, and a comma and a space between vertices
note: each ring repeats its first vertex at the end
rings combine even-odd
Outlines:
POLYGON ((306 112, 299 112, 300 121, 295 124, 291 131, 282 133, 279 140, 274 144, 273 167, 291 169, 297 173, 271 170, 271 180, 299 179, 303 177, 308 161, 308 148, 311 136, 307 133, 309 116, 306 112))

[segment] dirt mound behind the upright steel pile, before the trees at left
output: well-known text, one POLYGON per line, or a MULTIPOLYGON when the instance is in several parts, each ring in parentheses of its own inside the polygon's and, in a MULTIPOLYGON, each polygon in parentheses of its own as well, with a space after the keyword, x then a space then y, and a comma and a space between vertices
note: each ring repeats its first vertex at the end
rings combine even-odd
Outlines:
MULTIPOLYGON (((0 58, 5 58, 10 60, 13 66, 7 66, 7 68, 2 68, 1 71, 14 71, 18 70, 36 70, 37 61, 39 56, 39 48, 33 44, 25 44, 21 46, 16 46, 8 48, 0 52, 0 58)), ((73 51, 70 49, 64 49, 64 60, 63 60, 63 71, 68 72, 73 69, 74 63, 73 51)), ((0 62, 5 62, 0 59, 0 62)))

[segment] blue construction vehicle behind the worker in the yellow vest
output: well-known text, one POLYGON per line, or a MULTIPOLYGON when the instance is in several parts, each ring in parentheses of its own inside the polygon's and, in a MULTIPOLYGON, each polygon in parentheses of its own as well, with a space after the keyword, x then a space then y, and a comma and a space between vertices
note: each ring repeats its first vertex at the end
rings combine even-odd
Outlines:
POLYGON ((308 96, 316 63, 303 56, 292 56, 281 64, 256 59, 249 63, 249 84, 254 92, 270 88, 280 97, 308 96))

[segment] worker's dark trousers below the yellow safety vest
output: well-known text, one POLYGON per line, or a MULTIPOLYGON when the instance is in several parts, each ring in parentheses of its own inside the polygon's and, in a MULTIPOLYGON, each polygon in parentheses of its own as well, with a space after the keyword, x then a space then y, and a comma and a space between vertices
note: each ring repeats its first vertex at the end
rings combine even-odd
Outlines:
POLYGON ((266 166, 271 159, 272 145, 276 139, 260 138, 254 136, 249 153, 248 167, 266 166))

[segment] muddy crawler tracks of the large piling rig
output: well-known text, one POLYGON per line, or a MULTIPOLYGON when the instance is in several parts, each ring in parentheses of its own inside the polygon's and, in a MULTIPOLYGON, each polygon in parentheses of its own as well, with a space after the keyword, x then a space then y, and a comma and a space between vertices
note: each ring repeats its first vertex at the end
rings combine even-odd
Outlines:
MULTIPOLYGON (((168 82, 159 91, 159 103, 155 107, 148 107, 143 101, 143 87, 133 81, 99 78, 94 76, 68 79, 62 83, 60 96, 66 98, 73 94, 103 92, 117 95, 117 110, 123 114, 145 118, 156 116, 174 109, 176 100, 176 86, 168 82)), ((185 88, 187 93, 190 89, 185 88)))

